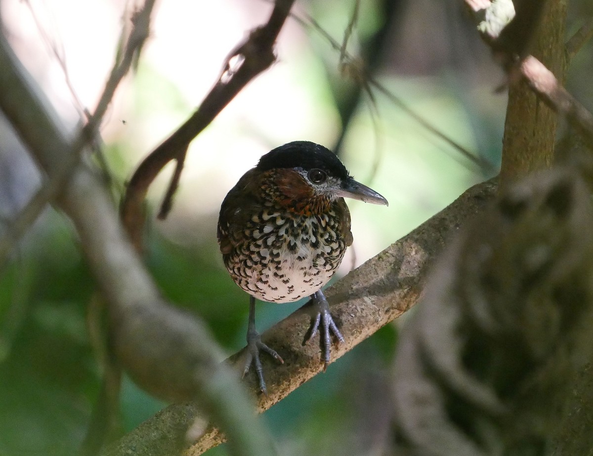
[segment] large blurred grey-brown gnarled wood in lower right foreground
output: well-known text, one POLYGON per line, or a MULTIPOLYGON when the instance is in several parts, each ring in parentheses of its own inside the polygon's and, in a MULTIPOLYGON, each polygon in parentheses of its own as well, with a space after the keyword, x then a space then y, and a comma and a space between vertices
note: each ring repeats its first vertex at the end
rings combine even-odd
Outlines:
MULTIPOLYGON (((550 454, 593 352, 593 208, 579 171, 507 187, 449 243, 399 340, 394 454, 550 454)), ((588 431, 565 454, 588 454, 588 431)))

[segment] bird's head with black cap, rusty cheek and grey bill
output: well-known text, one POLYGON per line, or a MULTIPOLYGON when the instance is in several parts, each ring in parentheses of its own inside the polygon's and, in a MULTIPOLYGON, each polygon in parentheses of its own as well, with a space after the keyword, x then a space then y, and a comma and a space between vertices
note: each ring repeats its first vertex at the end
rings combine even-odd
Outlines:
POLYGON ((355 181, 339 158, 324 146, 294 141, 268 152, 256 167, 272 171, 275 185, 287 200, 352 198, 387 206, 375 190, 355 181))

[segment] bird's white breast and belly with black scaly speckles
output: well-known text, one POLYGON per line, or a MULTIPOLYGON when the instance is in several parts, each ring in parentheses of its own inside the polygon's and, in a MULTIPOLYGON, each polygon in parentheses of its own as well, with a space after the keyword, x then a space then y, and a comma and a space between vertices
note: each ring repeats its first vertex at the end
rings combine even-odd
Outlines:
POLYGON ((253 215, 224 263, 238 286, 257 299, 293 302, 317 292, 336 272, 346 241, 334 211, 287 215, 267 206, 253 215), (281 215, 282 214, 282 215, 281 215))

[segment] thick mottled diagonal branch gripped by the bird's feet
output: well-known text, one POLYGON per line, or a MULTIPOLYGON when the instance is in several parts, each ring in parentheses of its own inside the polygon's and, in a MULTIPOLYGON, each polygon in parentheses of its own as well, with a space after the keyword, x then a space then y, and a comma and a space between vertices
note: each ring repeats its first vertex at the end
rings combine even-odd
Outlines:
MULTIPOLYGON (((416 304, 422 294, 427 269, 442 250, 445 240, 466 219, 482 211, 495 194, 495 181, 472 187, 448 208, 326 290, 331 314, 346 339, 346 343, 332 349, 332 361, 416 304)), ((262 340, 278 348, 285 363, 278 365, 272 359, 262 358, 268 396, 258 396, 260 412, 269 409, 322 371, 320 347, 312 344, 302 346, 310 318, 305 305, 263 334, 262 340)), ((232 356, 231 360, 240 355, 232 356)), ((259 385, 255 376, 248 375, 245 381, 256 395, 259 385)), ((123 456, 125 449, 132 447, 165 446, 165 442, 170 441, 172 423, 187 426, 194 413, 195 407, 189 404, 167 407, 124 436, 118 444, 119 452, 109 452, 105 456, 123 456)), ((184 455, 202 454, 223 439, 218 429, 209 428, 184 455)), ((151 453, 140 451, 136 454, 151 453)))

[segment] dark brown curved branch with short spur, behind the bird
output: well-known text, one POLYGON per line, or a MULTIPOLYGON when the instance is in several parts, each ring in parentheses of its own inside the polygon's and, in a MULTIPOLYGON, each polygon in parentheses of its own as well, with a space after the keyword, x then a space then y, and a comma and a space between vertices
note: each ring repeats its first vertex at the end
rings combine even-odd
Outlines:
POLYGON ((276 38, 293 3, 294 0, 276 0, 267 23, 252 30, 247 40, 229 54, 219 80, 206 95, 200 107, 173 135, 152 151, 133 174, 127 186, 121 212, 123 224, 138 250, 141 250, 142 244, 143 208, 148 187, 168 162, 177 161, 176 171, 159 213, 160 218, 165 218, 171 208, 171 198, 177 188, 190 142, 253 78, 272 65, 276 59, 274 55, 276 38), (238 68, 234 68, 235 60, 238 68))

